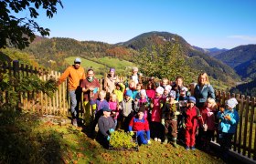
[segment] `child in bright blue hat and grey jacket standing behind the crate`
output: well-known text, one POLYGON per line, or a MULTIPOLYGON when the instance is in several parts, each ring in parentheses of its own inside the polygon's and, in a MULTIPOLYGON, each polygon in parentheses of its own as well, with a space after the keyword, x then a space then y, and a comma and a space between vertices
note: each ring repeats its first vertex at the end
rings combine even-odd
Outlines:
POLYGON ((124 131, 128 131, 130 120, 133 118, 134 101, 132 96, 133 96, 132 90, 127 90, 123 101, 120 103, 120 108, 119 108, 120 124, 118 128, 121 128, 120 126, 122 125, 124 128, 124 131))

